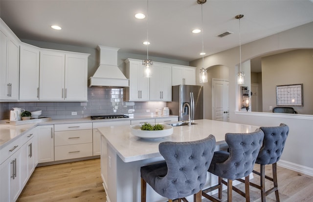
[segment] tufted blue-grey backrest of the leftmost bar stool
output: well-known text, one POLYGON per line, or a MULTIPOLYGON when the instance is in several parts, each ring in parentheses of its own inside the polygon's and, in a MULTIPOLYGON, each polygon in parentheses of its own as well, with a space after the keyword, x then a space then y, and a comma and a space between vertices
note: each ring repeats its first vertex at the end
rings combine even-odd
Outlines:
POLYGON ((199 192, 206 181, 214 150, 215 137, 190 142, 161 142, 159 152, 167 164, 167 174, 157 177, 155 190, 168 199, 199 192))

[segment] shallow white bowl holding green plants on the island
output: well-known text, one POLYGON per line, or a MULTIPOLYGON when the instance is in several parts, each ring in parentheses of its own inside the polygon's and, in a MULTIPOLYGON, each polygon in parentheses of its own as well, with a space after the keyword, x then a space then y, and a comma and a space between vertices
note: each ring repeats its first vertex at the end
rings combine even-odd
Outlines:
POLYGON ((142 131, 141 124, 131 126, 131 133, 134 136, 147 138, 147 139, 156 139, 160 137, 166 137, 173 134, 173 126, 167 124, 160 124, 164 127, 164 130, 161 131, 142 131))

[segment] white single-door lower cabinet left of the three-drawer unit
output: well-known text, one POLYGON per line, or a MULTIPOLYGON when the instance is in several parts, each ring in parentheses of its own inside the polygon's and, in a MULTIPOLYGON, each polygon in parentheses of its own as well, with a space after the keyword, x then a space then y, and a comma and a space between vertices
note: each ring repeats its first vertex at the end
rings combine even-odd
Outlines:
POLYGON ((54 161, 54 125, 37 126, 38 163, 54 161))

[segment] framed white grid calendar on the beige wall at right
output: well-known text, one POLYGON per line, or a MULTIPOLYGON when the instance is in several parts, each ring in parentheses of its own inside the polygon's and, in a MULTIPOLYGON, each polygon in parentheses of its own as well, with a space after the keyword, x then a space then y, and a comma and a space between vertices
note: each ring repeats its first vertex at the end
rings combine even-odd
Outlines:
POLYGON ((303 106, 303 84, 276 86, 277 106, 303 106))

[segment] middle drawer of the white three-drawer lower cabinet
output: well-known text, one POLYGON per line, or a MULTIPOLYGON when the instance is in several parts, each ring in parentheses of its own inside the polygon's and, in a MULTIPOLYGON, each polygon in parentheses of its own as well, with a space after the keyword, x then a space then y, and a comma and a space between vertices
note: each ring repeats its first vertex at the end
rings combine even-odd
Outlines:
POLYGON ((54 132, 54 146, 92 143, 92 129, 54 132))

